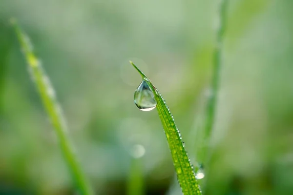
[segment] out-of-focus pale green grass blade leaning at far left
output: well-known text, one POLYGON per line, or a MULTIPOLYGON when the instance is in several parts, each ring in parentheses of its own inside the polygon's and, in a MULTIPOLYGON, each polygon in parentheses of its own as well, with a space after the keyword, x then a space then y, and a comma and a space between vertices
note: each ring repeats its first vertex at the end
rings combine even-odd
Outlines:
POLYGON ((55 98, 54 89, 50 84, 49 78, 43 71, 41 62, 34 55, 32 45, 28 37, 21 31, 21 28, 18 26, 16 20, 11 19, 11 23, 14 26, 16 35, 21 44, 22 52, 37 85, 42 103, 51 119, 51 122, 53 123, 55 133, 57 134, 61 150, 63 152, 63 157, 67 163, 68 169, 71 172, 75 185, 80 194, 92 195, 93 193, 91 188, 86 182, 84 174, 77 161, 77 157, 73 152, 73 148, 67 134, 66 125, 63 120, 63 115, 61 113, 61 108, 55 98))

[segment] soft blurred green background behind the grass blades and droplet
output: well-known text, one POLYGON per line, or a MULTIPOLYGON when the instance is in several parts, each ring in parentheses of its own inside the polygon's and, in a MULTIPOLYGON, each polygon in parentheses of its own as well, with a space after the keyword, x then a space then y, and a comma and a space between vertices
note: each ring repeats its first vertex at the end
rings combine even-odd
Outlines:
MULTIPOLYGON (((95 194, 126 195, 134 147, 145 195, 180 195, 156 111, 133 103, 141 78, 128 60, 167 100, 196 163, 218 4, 1 0, 0 195, 75 194, 10 17, 43 62, 95 194)), ((292 9, 292 0, 229 1, 204 195, 293 194, 292 9)))

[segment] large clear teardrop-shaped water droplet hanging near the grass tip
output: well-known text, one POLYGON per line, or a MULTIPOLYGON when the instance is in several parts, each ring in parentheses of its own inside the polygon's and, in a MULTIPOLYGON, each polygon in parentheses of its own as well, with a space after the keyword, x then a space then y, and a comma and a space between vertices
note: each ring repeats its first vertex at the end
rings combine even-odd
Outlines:
POLYGON ((154 94, 143 80, 134 92, 134 103, 142 111, 151 111, 157 105, 154 94))

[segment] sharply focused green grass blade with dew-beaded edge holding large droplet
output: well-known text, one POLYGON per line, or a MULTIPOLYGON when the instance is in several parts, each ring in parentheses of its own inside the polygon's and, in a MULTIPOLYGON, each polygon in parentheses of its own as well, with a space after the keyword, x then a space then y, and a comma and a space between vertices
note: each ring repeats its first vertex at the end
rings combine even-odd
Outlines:
POLYGON ((157 88, 146 77, 146 75, 141 72, 134 63, 131 61, 130 63, 140 73, 142 78, 146 81, 154 93, 155 99, 157 101, 157 111, 165 130, 167 142, 177 174, 177 179, 183 194, 201 195, 200 187, 197 183, 192 165, 190 164, 190 160, 181 140, 181 134, 174 123, 173 116, 171 115, 165 100, 162 98, 157 88))

